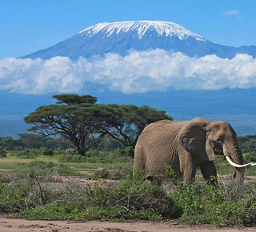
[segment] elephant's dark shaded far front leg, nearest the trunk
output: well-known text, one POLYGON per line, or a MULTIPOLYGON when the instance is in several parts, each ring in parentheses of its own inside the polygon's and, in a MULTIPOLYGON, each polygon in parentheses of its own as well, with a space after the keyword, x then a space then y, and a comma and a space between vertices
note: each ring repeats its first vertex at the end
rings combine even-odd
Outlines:
POLYGON ((200 165, 203 177, 207 183, 217 185, 217 171, 213 161, 205 161, 200 165))

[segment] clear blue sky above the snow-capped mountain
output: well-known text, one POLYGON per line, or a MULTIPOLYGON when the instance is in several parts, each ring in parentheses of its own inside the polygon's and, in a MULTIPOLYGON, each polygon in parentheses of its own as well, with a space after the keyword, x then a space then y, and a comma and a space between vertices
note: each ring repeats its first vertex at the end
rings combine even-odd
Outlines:
POLYGON ((52 46, 98 22, 176 22, 212 42, 256 45, 254 0, 0 0, 0 58, 52 46))

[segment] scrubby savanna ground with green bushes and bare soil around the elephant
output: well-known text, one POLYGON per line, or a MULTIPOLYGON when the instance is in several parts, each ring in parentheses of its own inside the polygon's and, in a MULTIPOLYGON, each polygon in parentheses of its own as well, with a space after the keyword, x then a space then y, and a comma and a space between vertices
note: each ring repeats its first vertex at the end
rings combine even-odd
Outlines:
POLYGON ((0 231, 256 231, 256 168, 235 186, 221 156, 218 187, 199 171, 182 187, 168 166, 158 187, 133 176, 125 154, 19 153, 0 160, 0 231))

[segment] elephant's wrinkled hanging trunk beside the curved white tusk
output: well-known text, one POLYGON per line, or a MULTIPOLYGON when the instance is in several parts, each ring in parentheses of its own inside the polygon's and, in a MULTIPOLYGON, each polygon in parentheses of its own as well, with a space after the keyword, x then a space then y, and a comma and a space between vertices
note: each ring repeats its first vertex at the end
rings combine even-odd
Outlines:
POLYGON ((242 183, 245 178, 245 166, 250 164, 245 164, 242 158, 242 151, 240 150, 238 143, 233 142, 231 148, 223 146, 223 153, 226 156, 227 161, 234 166, 233 179, 234 182, 242 183))

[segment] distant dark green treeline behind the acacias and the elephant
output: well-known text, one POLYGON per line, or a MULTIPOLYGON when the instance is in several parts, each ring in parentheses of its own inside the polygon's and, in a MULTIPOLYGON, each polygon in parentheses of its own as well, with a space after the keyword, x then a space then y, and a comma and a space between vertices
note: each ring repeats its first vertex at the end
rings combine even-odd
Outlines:
MULTIPOLYGON (((0 148, 4 150, 26 150, 46 147, 52 150, 66 150, 72 147, 70 142, 62 138, 51 138, 38 134, 18 134, 18 137, 18 139, 0 137, 0 148)), ((256 135, 239 136, 238 145, 241 147, 242 153, 256 154, 256 135)), ((105 138, 93 148, 98 150, 114 150, 122 148, 122 144, 114 139, 105 138)))

